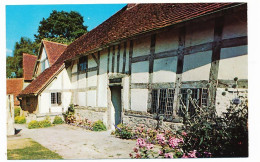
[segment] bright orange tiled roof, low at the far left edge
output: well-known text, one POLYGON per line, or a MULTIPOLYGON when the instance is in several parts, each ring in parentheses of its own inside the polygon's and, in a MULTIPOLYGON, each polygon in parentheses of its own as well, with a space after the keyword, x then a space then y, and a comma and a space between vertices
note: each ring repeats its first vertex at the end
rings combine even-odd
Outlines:
POLYGON ((6 79, 6 94, 14 95, 14 104, 19 105, 19 101, 16 99, 16 96, 23 89, 23 78, 12 78, 6 79))

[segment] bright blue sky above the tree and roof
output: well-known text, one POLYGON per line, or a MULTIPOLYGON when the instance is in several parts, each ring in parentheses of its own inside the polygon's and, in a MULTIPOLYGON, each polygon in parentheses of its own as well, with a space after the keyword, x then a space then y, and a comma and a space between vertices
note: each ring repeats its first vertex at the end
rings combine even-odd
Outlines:
POLYGON ((126 4, 80 4, 80 5, 6 5, 6 56, 13 56, 15 43, 21 37, 34 40, 43 18, 53 10, 77 11, 84 18, 88 31, 92 30, 126 4))

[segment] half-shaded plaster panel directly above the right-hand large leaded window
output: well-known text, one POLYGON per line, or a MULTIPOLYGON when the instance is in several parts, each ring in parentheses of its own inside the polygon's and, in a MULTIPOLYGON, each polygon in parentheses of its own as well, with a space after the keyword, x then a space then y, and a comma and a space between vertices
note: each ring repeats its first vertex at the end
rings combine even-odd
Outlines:
POLYGON ((212 51, 184 56, 182 81, 209 80, 212 51))

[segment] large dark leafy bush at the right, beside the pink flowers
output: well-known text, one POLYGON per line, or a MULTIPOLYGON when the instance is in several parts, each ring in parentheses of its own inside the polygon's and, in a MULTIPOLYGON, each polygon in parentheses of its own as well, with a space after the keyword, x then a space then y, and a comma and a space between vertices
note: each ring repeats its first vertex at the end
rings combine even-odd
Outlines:
MULTIPOLYGON (((192 101, 192 99, 190 99, 192 101)), ((207 157, 248 156, 247 98, 239 96, 230 103, 227 112, 217 115, 215 107, 196 106, 194 115, 186 112, 183 150, 197 150, 196 155, 207 157)))

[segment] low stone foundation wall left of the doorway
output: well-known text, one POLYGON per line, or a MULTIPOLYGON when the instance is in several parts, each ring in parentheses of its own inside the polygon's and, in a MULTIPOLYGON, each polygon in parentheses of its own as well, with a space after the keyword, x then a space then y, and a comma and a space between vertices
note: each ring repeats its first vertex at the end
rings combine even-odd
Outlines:
POLYGON ((92 122, 101 120, 106 126, 107 123, 107 108, 106 107, 75 107, 75 116, 77 119, 88 119, 92 122))

